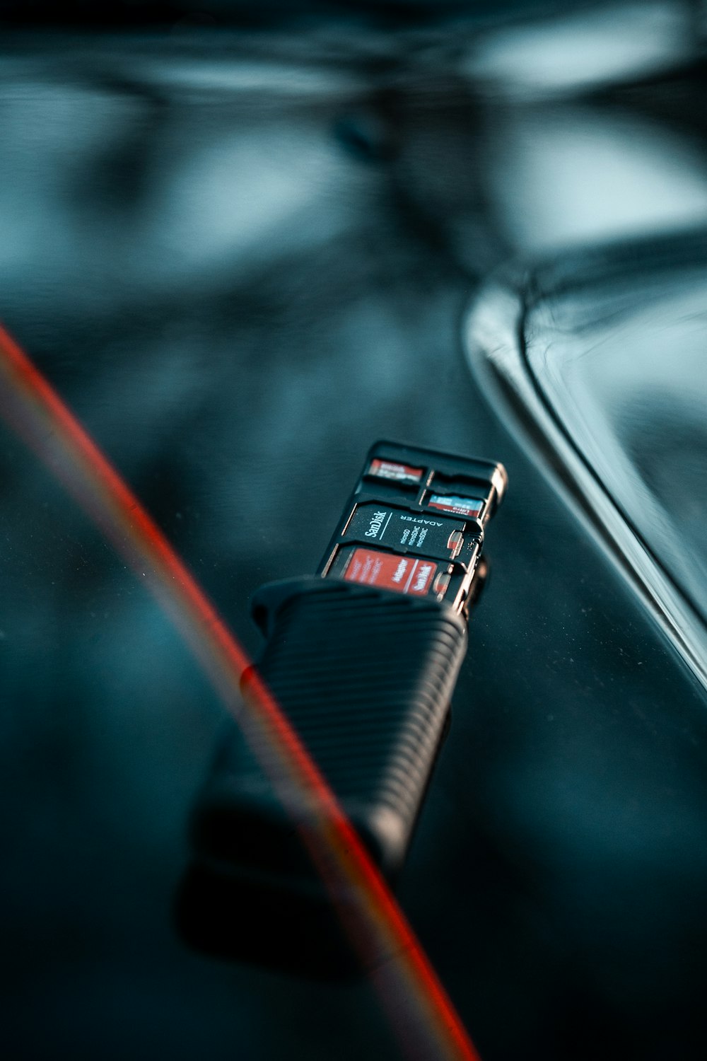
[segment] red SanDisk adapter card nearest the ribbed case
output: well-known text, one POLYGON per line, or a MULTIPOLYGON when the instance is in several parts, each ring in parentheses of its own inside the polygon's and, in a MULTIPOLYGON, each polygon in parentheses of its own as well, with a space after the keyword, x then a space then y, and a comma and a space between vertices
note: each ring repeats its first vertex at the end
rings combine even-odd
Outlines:
MULTIPOLYGON (((448 564, 420 556, 384 553, 383 550, 351 546, 340 551, 332 574, 347 582, 377 586, 394 593, 425 596, 447 574, 448 564)), ((448 581, 445 582, 444 588, 448 581)))

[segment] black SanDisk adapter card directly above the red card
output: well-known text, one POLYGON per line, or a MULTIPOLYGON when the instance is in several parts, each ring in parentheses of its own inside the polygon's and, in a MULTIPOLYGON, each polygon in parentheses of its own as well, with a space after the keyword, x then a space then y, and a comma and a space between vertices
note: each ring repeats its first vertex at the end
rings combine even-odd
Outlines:
POLYGON ((461 551, 464 523, 370 502, 356 506, 343 537, 452 560, 461 551))

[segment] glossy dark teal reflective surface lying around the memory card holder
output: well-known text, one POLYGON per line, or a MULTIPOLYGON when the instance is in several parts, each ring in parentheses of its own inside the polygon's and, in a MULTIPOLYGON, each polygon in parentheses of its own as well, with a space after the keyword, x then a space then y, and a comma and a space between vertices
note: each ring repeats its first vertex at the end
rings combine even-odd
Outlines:
MULTIPOLYGON (((694 99, 692 38, 675 35, 687 80, 683 44, 658 40, 640 76, 671 68, 694 99)), ((315 568, 374 438, 503 462, 401 898, 488 1061, 702 1058, 703 690, 489 408, 460 338, 511 253, 701 222, 702 131, 676 128, 659 85, 622 94, 635 67, 601 98, 530 91, 477 70, 476 48, 8 37, 0 316, 251 650, 253 591, 315 568), (619 173, 601 195, 591 159, 619 173)), ((220 709, 4 428, 0 463, 5 1054, 395 1057, 367 985, 176 939, 220 709)))

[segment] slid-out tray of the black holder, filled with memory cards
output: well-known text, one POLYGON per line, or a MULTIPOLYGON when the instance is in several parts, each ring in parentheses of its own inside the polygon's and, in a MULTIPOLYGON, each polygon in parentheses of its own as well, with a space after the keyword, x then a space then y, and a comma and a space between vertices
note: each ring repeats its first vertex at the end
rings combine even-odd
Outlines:
POLYGON ((376 442, 319 574, 461 611, 506 483, 500 464, 376 442))

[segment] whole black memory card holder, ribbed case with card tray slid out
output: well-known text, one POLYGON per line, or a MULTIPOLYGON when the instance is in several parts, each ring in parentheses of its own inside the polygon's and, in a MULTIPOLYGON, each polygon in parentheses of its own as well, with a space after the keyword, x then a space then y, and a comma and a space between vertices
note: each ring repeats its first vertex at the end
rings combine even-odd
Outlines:
MULTIPOLYGON (((445 735, 483 527, 505 485, 499 465, 378 442, 318 574, 264 586, 252 601, 265 638, 258 674, 391 882, 445 735), (483 491, 480 519, 430 509, 429 491, 467 499, 469 485, 483 491)), ((351 947, 297 813, 229 724, 192 816, 178 924, 208 953, 346 975, 351 947)))

